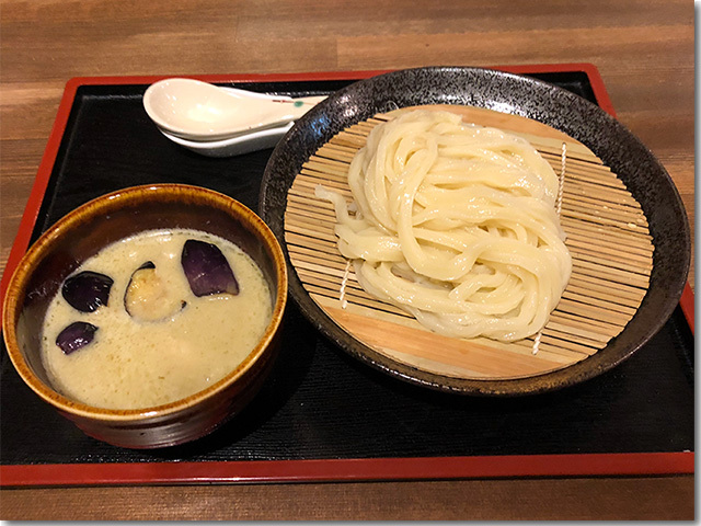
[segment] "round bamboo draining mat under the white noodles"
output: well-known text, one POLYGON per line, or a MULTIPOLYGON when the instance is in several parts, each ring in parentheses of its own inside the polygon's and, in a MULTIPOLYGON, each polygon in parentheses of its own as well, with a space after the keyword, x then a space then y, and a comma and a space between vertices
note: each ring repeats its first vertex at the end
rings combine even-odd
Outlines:
POLYGON ((377 124, 398 110, 334 136, 302 167, 287 197, 285 240, 304 289, 341 328, 392 359, 438 375, 470 379, 524 378, 575 364, 604 348, 637 310, 650 283, 654 247, 640 204, 609 168, 570 136, 525 117, 468 106, 450 110, 466 122, 495 126, 528 139, 565 178, 561 224, 573 259, 570 283, 535 339, 501 343, 460 340, 424 329, 401 309, 358 285, 341 255, 329 202, 314 196, 322 184, 352 201, 347 170, 377 124), (537 348, 536 348, 537 347, 537 348))

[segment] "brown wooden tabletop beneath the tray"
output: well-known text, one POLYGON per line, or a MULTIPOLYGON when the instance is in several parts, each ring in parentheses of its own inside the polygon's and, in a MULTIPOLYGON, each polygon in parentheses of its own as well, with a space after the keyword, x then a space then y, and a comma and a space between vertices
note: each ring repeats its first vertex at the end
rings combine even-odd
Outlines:
MULTIPOLYGON (((87 76, 591 62, 693 236, 689 1, 3 0, 0 39, 0 271, 64 87, 87 76)), ((5 489, 0 518, 691 519, 693 496, 692 476, 5 489)))

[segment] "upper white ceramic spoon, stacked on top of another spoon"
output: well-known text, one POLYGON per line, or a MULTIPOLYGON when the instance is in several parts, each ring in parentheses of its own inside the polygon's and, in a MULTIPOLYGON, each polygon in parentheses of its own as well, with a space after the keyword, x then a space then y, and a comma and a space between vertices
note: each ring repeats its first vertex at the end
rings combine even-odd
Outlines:
POLYGON ((143 93, 143 107, 170 135, 212 141, 284 126, 324 99, 267 95, 175 78, 151 84, 143 93))

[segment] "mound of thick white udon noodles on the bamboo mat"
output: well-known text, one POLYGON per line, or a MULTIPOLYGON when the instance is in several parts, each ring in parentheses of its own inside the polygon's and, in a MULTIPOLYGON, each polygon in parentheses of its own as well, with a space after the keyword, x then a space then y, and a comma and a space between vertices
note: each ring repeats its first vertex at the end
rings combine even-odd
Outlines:
POLYGON ((572 271, 559 184, 527 140, 415 110, 369 134, 352 204, 315 194, 367 293, 439 334, 515 341, 544 327, 572 271))

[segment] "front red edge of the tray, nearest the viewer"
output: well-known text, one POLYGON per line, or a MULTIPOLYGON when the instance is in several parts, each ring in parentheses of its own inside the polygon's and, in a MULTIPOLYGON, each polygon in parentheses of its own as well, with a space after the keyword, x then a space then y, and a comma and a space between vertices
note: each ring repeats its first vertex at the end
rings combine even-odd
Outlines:
POLYGON ((517 477, 692 474, 694 454, 630 453, 475 457, 117 462, 0 466, 0 487, 234 482, 341 482, 517 477))

